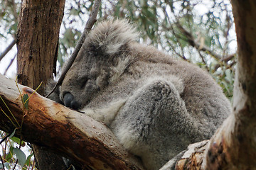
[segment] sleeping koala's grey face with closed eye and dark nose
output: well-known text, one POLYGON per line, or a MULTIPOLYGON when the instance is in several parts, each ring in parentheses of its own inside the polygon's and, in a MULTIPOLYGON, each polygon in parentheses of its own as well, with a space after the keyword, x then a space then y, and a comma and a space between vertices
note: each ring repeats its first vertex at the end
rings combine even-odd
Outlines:
POLYGON ((78 57, 60 86, 60 100, 65 106, 78 110, 108 85, 108 61, 95 57, 78 57))

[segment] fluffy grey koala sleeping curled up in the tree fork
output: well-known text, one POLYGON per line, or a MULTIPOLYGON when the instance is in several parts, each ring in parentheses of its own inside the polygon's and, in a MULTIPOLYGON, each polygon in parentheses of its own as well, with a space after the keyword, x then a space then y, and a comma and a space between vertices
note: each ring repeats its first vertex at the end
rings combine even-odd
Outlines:
POLYGON ((105 123, 155 170, 189 144, 209 139, 231 106, 207 72, 137 37, 127 21, 98 23, 51 98, 105 123))

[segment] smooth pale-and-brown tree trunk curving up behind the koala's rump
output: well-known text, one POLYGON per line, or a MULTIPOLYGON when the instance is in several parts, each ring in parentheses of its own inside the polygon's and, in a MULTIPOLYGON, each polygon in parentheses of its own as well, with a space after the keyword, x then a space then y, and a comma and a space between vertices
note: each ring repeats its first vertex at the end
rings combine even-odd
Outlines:
POLYGON ((164 169, 255 169, 256 167, 256 1, 232 0, 238 38, 233 114, 208 145, 191 145, 164 169))

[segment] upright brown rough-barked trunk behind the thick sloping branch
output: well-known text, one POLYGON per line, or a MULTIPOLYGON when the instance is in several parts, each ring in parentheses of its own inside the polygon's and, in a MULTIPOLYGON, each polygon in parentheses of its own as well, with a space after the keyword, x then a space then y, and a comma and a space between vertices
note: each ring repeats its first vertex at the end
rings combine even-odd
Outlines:
MULTIPOLYGON (((65 0, 23 0, 17 32, 18 82, 33 89, 43 81, 42 95, 48 79, 53 79, 58 55, 58 35, 65 0)), ((38 169, 64 169, 62 158, 33 145, 38 169), (61 163, 61 164, 58 164, 61 163)))

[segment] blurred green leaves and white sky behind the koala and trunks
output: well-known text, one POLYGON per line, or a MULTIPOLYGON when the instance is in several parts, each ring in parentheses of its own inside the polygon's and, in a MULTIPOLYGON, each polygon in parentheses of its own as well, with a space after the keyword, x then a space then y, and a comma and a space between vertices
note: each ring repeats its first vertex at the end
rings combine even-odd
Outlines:
MULTIPOLYGON (((0 4, 0 71, 16 77, 15 35, 21 1, 0 0, 0 4)), ((71 55, 91 10, 92 1, 66 1, 60 29, 58 70, 71 55)), ((230 1, 102 1, 98 18, 127 18, 141 33, 139 42, 154 45, 172 57, 206 69, 232 101, 237 45, 230 1)), ((0 132, 0 141, 5 136, 5 132, 0 132)), ((14 153, 14 148, 20 145, 21 142, 13 139, 1 142, 1 159, 16 162, 18 154, 14 153)), ((21 149, 26 146, 22 144, 21 149)), ((35 169, 29 147, 22 150, 28 160, 23 169, 35 169)), ((16 169, 21 169, 21 165, 16 169)))

